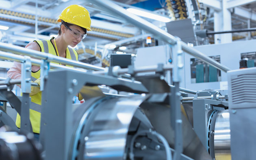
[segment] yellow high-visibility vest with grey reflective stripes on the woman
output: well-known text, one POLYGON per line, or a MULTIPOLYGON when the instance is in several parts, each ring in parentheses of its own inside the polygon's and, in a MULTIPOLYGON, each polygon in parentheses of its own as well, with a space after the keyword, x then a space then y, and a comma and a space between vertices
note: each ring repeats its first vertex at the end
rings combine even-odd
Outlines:
MULTIPOLYGON (((53 39, 53 38, 52 38, 53 39)), ((40 51, 44 53, 50 53, 52 55, 56 55, 56 50, 54 48, 53 43, 51 40, 35 40, 34 42, 37 42, 37 44, 40 46, 40 51)), ((72 49, 67 47, 66 49, 66 58, 67 59, 72 59, 74 61, 78 60, 78 54, 77 52, 72 49)), ((57 63, 59 64, 59 63, 57 63)), ((68 67, 73 67, 66 65, 68 67)), ((37 72, 31 72, 31 80, 34 82, 40 78, 40 69, 37 72)), ((42 92, 40 91, 39 93, 30 96, 31 97, 31 103, 30 103, 30 109, 29 109, 29 114, 30 114, 30 122, 33 128, 34 133, 40 133, 40 123, 41 123, 41 97, 42 97, 42 92)), ((17 114, 16 118, 16 126, 20 128, 20 115, 17 114)))

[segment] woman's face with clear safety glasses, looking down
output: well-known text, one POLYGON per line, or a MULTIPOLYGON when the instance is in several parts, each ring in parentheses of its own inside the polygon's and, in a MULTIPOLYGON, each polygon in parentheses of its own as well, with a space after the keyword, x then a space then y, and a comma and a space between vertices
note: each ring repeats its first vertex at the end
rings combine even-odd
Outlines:
POLYGON ((82 37, 85 35, 85 32, 82 30, 82 28, 78 27, 77 25, 70 25, 69 27, 65 27, 65 40, 67 44, 74 47, 79 42, 81 42, 82 37))

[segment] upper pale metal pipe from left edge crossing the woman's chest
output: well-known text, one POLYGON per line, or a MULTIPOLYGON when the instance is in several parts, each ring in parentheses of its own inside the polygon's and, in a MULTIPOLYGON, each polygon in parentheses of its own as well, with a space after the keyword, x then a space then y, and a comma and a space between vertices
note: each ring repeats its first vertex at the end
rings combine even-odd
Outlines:
POLYGON ((55 55, 51 55, 51 54, 47 54, 47 53, 42 53, 39 51, 34 51, 28 48, 23 48, 20 46, 15 46, 12 44, 7 44, 7 43, 2 43, 0 42, 0 50, 1 51, 5 51, 5 52, 11 52, 17 55, 27 55, 30 57, 34 57, 37 59, 47 59, 50 62, 56 62, 56 63, 61 63, 61 64, 65 64, 65 65, 71 65, 74 67, 79 67, 79 68, 83 68, 83 69, 92 69, 92 70, 96 70, 96 71, 100 71, 100 70, 104 70, 103 67, 98 67, 95 65, 90 65, 90 64, 86 64, 86 63, 82 63, 82 62, 77 62, 77 61, 73 61, 70 59, 66 59, 63 57, 58 57, 55 55))

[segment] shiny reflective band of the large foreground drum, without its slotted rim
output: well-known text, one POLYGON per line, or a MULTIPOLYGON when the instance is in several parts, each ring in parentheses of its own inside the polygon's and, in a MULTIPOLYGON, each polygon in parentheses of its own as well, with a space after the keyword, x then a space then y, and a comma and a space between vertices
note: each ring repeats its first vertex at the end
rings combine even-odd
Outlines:
POLYGON ((130 122, 146 97, 120 97, 100 103, 85 137, 84 159, 122 160, 130 122))

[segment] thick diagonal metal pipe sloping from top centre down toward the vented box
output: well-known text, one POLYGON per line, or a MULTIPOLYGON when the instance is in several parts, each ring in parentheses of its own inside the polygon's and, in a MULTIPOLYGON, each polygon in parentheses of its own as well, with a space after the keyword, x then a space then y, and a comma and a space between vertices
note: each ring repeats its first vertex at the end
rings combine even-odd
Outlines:
MULTIPOLYGON (((145 19, 142 19, 132 13, 129 13, 124 8, 118 6, 117 4, 111 2, 110 0, 91 0, 94 4, 100 6, 102 9, 105 9, 109 12, 112 12, 115 15, 119 15, 126 19, 128 22, 132 23, 133 25, 136 25, 137 27, 140 27, 141 29, 144 29, 145 31, 150 32, 151 34, 165 40, 169 44, 176 44, 176 38, 172 36, 171 34, 165 32, 163 29, 160 29, 153 25, 152 23, 146 21, 145 19)), ((227 72, 230 69, 224 65, 221 65, 219 62, 209 58, 208 56, 204 55, 203 53, 197 51, 196 49, 187 46, 186 43, 182 42, 182 50, 186 53, 189 53, 190 55, 197 57, 198 59, 205 61, 206 63, 224 71, 227 72)))

